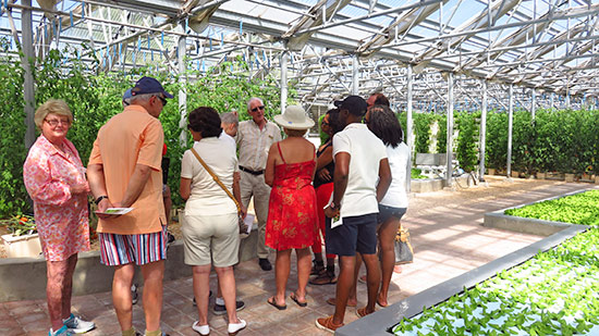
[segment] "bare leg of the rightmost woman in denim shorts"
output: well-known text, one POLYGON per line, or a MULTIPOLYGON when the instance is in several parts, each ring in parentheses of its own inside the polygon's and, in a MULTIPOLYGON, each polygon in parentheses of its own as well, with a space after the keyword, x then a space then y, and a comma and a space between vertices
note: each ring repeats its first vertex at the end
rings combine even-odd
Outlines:
POLYGON ((387 307, 387 297, 389 295, 389 284, 391 283, 391 276, 393 275, 393 266, 395 265, 395 251, 393 241, 395 239, 395 234, 400 227, 400 221, 395 217, 390 217, 384 223, 382 223, 379 228, 379 241, 381 253, 381 287, 377 301, 380 306, 387 307))

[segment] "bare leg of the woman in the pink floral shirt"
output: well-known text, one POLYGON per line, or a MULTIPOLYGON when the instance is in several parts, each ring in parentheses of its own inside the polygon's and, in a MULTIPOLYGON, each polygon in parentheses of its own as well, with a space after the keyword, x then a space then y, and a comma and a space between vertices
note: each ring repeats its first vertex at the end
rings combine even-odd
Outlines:
MULTIPOLYGON (((76 256, 76 254, 75 254, 76 256)), ((46 261, 48 281, 46 283, 46 297, 48 300, 48 313, 52 329, 62 327, 62 309, 65 290, 65 279, 69 273, 69 259, 61 261, 46 261)))

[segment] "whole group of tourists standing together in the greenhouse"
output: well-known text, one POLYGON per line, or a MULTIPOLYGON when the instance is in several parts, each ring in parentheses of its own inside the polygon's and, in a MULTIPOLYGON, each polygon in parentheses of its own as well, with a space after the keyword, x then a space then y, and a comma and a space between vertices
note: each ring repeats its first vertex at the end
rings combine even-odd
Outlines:
MULTIPOLYGON (((88 195, 97 206, 100 262, 114 270, 112 302, 122 335, 142 335, 132 323, 135 265, 144 278, 144 335, 164 335, 160 314, 170 190, 162 175, 164 135, 158 117, 171 98, 155 78, 137 80, 123 96, 124 110, 98 132, 87 170, 66 139, 73 123, 66 103, 50 99, 37 109, 35 123, 41 135, 29 149, 23 174, 47 260, 50 336, 95 327, 71 312, 77 253, 89 250, 88 195), (113 213, 114 208, 130 212, 113 213)), ((274 122, 265 117, 259 98, 249 99, 252 119, 241 123, 236 113, 219 115, 210 107, 188 113, 194 145, 181 159, 185 209, 180 221, 198 311, 192 328, 198 334, 210 334, 212 266, 218 278, 212 312, 227 314, 229 335, 247 325, 237 316, 245 303, 236 298, 233 266, 239 263, 240 231, 252 199, 261 270, 272 270, 269 250, 276 250, 277 289, 269 304, 284 310, 289 298, 306 307, 308 284, 337 284, 335 296, 328 300, 335 306, 334 314, 316 321, 319 328, 334 332, 343 325, 346 307, 357 303, 362 262, 368 300, 356 313, 364 316, 377 303, 389 304, 393 239, 407 209, 408 150, 384 96, 372 95, 368 101, 349 96, 334 104, 321 121, 327 139, 318 149, 305 138, 315 122, 298 105, 288 107, 274 122), (293 249, 297 288, 288 297, 293 249)))

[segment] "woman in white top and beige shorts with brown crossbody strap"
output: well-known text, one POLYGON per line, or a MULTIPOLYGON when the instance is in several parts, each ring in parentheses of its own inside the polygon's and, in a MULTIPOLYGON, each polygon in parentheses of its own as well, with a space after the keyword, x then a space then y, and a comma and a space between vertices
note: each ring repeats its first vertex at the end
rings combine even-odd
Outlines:
MULTIPOLYGON (((241 203, 239 182, 233 178, 237 157, 235 149, 219 138, 222 132, 219 114, 212 108, 201 107, 190 113, 188 121, 187 127, 196 141, 193 149, 222 184, 233 190, 232 194, 241 203)), ((210 334, 208 297, 210 267, 213 265, 229 318, 228 332, 234 335, 246 325, 236 315, 233 274, 240 248, 237 208, 192 150, 186 150, 181 161, 180 191, 181 197, 187 200, 182 233, 185 263, 193 267, 194 295, 199 315, 192 328, 200 335, 210 334)))

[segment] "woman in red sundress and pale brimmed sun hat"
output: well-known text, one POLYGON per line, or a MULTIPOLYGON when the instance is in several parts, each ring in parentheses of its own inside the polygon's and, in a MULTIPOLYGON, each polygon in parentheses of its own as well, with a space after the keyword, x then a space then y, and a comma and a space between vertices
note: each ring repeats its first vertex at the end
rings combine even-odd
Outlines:
POLYGON ((292 105, 274 116, 286 138, 270 147, 265 182, 272 187, 266 223, 266 245, 277 250, 274 276, 277 294, 268 303, 286 308, 285 287, 291 269, 291 251, 297 256, 297 289, 291 294, 297 306, 306 307, 306 285, 310 274, 310 251, 318 234, 316 192, 311 186, 316 167, 315 147, 304 138, 314 126, 304 109, 292 105))

